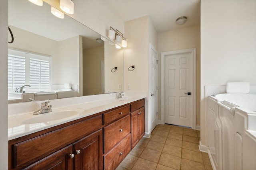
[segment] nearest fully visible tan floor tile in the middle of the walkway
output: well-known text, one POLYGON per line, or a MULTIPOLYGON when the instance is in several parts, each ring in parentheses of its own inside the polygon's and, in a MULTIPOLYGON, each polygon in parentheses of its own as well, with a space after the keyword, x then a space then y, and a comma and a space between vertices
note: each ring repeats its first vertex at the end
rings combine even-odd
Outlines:
POLYGON ((180 170, 180 161, 181 158, 178 156, 162 153, 158 163, 170 168, 180 170))

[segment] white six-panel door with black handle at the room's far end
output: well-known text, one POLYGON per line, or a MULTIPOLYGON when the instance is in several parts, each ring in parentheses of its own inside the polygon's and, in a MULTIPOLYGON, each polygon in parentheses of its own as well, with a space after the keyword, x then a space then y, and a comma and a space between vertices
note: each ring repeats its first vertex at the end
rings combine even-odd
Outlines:
POLYGON ((164 121, 194 127, 195 49, 164 52, 164 121))

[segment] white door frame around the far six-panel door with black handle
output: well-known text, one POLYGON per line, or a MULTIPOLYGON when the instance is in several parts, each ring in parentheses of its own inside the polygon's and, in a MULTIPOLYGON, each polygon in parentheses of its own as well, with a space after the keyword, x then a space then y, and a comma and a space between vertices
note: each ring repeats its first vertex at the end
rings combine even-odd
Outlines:
POLYGON ((166 56, 169 55, 176 55, 176 54, 184 54, 184 53, 191 53, 192 55, 192 129, 196 129, 196 48, 191 49, 182 49, 182 50, 175 50, 175 51, 166 51, 161 53, 161 124, 165 123, 165 109, 164 109, 164 59, 166 56))

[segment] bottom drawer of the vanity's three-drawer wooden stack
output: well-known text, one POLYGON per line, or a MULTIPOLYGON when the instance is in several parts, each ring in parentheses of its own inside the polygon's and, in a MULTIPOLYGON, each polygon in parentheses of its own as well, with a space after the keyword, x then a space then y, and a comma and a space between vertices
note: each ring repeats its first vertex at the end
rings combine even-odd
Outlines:
POLYGON ((122 141, 116 145, 110 152, 104 156, 105 169, 115 169, 126 155, 131 151, 131 134, 127 135, 122 141))

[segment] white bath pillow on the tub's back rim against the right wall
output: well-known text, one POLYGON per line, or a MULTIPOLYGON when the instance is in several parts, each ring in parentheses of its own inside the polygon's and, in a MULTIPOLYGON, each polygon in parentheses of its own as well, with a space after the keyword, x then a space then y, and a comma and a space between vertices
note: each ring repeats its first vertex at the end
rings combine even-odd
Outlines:
POLYGON ((226 84, 227 93, 249 93, 250 83, 249 82, 228 82, 226 84))

